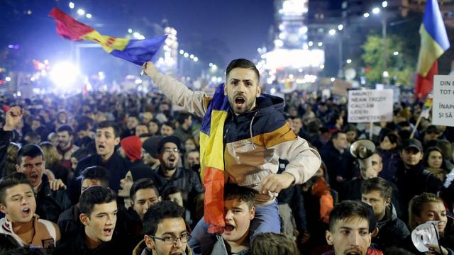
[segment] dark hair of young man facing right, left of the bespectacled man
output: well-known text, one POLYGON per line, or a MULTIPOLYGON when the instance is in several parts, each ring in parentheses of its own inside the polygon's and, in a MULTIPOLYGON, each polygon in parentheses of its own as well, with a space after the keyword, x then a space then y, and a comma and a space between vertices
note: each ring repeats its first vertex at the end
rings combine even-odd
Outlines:
POLYGON ((93 186, 87 188, 84 193, 80 196, 79 210, 80 213, 84 213, 90 217, 92 214, 94 205, 103 203, 111 203, 116 201, 116 194, 110 188, 103 188, 101 186, 93 186))

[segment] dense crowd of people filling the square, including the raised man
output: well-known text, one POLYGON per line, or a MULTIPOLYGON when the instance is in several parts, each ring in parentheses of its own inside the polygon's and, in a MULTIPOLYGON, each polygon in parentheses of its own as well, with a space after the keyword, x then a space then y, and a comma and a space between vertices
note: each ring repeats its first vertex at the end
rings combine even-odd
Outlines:
POLYGON ((423 102, 370 127, 248 60, 214 95, 143 69, 162 94, 0 98, 0 254, 454 254, 454 130, 423 102))

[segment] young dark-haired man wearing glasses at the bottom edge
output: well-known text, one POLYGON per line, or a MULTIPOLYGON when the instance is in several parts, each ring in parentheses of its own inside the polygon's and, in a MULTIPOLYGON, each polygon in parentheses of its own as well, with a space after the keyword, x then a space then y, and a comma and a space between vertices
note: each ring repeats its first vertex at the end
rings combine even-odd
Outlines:
POLYGON ((143 217, 144 237, 133 255, 192 255, 187 245, 191 235, 184 222, 184 209, 172 201, 156 203, 143 217))

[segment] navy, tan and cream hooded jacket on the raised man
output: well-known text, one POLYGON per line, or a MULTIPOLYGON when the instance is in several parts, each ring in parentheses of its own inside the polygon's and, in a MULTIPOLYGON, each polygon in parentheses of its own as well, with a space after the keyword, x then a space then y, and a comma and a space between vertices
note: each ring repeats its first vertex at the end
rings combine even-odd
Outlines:
MULTIPOLYGON (((152 78, 172 103, 204 117, 212 98, 204 92, 191 91, 164 74, 157 73, 152 78)), ((292 174, 295 184, 309 180, 319 169, 321 159, 306 140, 294 135, 279 112, 284 100, 262 94, 256 106, 254 111, 240 115, 228 111, 223 126, 224 181, 258 191, 262 179, 277 173, 279 158, 289 160, 284 173, 292 174)), ((276 196, 277 193, 257 195, 256 204, 270 204, 276 196)))

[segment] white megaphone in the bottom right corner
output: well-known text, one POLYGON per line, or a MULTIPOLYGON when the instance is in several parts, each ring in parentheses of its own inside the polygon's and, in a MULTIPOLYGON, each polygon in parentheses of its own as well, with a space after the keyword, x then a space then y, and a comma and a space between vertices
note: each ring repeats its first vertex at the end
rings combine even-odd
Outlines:
POLYGON ((429 221, 416 227, 411 232, 411 242, 418 251, 426 252, 428 248, 426 244, 435 244, 438 246, 438 221, 429 221))

